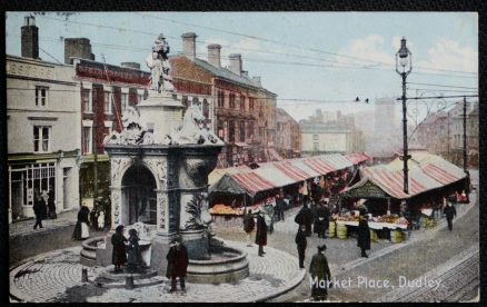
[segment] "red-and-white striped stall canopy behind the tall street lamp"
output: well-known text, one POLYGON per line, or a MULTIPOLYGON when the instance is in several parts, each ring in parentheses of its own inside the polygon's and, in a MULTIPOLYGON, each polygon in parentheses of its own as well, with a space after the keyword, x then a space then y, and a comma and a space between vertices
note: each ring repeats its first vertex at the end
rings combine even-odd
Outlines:
MULTIPOLYGON (((429 155, 429 154, 428 154, 429 155)), ((407 199, 419 194, 455 184, 466 177, 457 166, 440 157, 415 157, 408 164, 409 194, 404 192, 404 172, 399 164, 392 161, 387 166, 367 167, 360 170, 360 181, 341 191, 345 197, 407 199)))

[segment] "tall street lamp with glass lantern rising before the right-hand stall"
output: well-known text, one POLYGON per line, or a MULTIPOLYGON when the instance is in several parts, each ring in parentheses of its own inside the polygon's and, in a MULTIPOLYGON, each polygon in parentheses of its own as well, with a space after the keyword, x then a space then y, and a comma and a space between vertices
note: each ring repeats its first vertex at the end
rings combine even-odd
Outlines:
POLYGON ((402 161, 404 161, 404 192, 409 194, 408 191, 408 140, 407 140, 407 108, 406 108, 406 78, 413 70, 413 55, 409 52, 409 49, 406 47, 406 39, 402 38, 400 40, 400 49, 396 53, 396 72, 402 77, 402 161), (399 66, 402 68, 400 71, 399 66))

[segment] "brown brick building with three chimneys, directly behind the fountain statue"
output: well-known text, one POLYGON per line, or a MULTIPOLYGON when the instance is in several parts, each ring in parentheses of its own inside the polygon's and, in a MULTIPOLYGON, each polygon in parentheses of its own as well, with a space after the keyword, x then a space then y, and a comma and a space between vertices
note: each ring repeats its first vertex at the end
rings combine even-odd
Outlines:
POLYGON ((197 58, 196 37, 182 34, 182 55, 169 58, 172 82, 183 105, 201 106, 208 129, 226 142, 218 167, 277 158, 277 95, 262 88, 260 78, 249 78, 241 55, 230 55, 223 68, 220 44, 208 46, 208 61, 197 58))

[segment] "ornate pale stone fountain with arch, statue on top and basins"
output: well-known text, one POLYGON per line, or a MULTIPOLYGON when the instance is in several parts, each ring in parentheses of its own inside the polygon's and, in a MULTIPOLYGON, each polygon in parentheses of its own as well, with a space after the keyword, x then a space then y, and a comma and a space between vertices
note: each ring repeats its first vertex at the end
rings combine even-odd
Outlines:
POLYGON ((107 237, 83 242, 81 260, 110 266, 110 237, 123 225, 126 234, 132 228, 139 234, 148 268, 141 278, 166 273, 169 244, 180 236, 188 249, 188 281, 236 281, 249 275, 247 254, 215 238, 208 212, 208 174, 223 142, 202 128, 206 119, 199 106, 190 106, 181 120, 183 107, 173 93, 165 46, 161 34, 146 59, 152 70, 148 99, 129 107, 123 130, 105 140, 112 225, 107 237))

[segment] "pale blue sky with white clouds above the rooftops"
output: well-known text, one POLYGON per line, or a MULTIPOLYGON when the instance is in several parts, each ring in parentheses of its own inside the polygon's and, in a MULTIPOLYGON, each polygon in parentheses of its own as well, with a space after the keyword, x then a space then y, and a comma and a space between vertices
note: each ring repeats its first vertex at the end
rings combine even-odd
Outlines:
MULTIPOLYGON (((30 12, 7 12, 6 51, 20 56, 20 28, 30 12)), ((33 12, 31 12, 33 13, 33 12)), ((181 52, 181 34, 195 32, 197 57, 220 43, 221 63, 241 53, 242 68, 260 76, 278 95, 278 107, 296 120, 315 109, 342 113, 374 110, 377 98, 401 95, 395 57, 407 39, 413 70, 407 97, 476 95, 478 14, 476 12, 57 12, 34 14, 40 57, 63 62, 63 38, 88 38, 97 60, 140 62, 163 33, 170 55, 181 52), (356 97, 360 102, 354 102, 356 97), (365 103, 368 98, 370 103, 365 103)), ((459 99, 448 99, 457 101, 459 99)), ((426 100, 423 100, 426 101, 426 100)), ((417 103, 420 116, 424 103, 417 103)), ((435 105, 435 101, 430 101, 435 105)), ((439 105, 438 105, 439 106, 439 105)), ((396 117, 400 118, 400 102, 396 117)), ((398 122, 399 125, 399 122, 398 122)))

